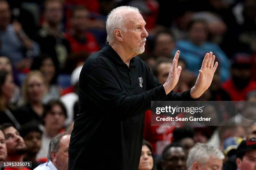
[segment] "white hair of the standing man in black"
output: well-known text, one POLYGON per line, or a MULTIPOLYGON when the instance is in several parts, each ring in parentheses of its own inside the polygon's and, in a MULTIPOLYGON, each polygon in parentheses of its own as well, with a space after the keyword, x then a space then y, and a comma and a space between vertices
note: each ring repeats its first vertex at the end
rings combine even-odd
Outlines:
POLYGON ((114 40, 114 30, 120 29, 126 32, 125 23, 127 18, 124 18, 124 15, 129 12, 138 12, 138 8, 131 6, 120 6, 111 10, 107 17, 106 30, 107 30, 107 42, 114 40))

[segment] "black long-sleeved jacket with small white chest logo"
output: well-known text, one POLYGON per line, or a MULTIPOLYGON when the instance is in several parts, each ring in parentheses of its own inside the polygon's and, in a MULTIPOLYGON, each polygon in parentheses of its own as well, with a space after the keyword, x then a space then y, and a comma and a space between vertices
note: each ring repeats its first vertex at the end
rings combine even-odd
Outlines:
POLYGON ((90 56, 79 78, 79 114, 69 143, 69 170, 138 170, 144 112, 151 100, 191 100, 171 92, 139 57, 128 67, 110 45, 90 56))

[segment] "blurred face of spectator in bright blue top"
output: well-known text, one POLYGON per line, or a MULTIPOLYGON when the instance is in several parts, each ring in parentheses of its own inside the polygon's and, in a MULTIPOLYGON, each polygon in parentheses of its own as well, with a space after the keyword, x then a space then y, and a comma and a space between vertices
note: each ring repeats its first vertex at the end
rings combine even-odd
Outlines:
POLYGON ((201 45, 207 40, 207 25, 203 22, 196 22, 191 25, 188 31, 189 39, 196 45, 201 45))

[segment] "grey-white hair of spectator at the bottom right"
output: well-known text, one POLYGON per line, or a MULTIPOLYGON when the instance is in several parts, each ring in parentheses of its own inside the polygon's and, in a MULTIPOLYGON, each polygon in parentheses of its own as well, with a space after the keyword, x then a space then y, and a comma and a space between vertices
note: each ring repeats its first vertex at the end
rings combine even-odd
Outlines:
POLYGON ((207 163, 210 159, 223 160, 224 154, 217 148, 209 144, 197 143, 187 156, 187 169, 191 170, 194 162, 201 165, 207 163))

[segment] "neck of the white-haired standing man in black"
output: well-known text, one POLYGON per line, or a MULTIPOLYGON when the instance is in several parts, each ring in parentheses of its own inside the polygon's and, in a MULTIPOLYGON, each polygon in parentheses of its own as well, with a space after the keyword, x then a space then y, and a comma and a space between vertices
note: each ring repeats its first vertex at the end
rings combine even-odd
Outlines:
POLYGON ((130 60, 135 57, 137 54, 135 52, 131 52, 126 50, 127 47, 123 47, 121 44, 117 43, 109 43, 109 45, 118 53, 123 62, 129 67, 130 60))

